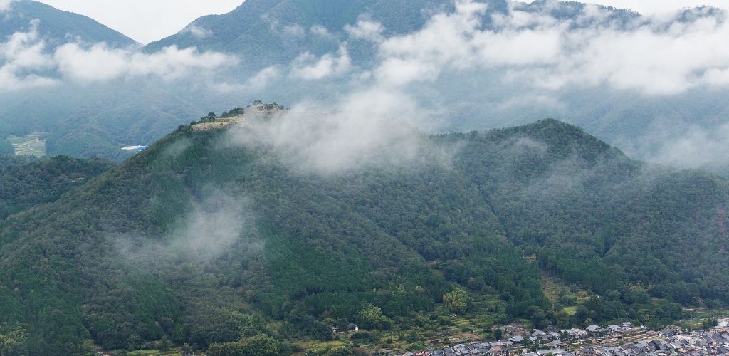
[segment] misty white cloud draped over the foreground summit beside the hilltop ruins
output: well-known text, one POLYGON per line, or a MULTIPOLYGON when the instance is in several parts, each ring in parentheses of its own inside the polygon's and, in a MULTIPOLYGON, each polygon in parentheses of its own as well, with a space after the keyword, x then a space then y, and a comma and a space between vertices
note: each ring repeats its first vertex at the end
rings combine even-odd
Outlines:
POLYGON ((303 102, 279 117, 252 120, 230 131, 230 143, 268 147, 297 171, 338 174, 415 158, 422 137, 408 122, 420 115, 402 93, 362 90, 333 105, 303 102))

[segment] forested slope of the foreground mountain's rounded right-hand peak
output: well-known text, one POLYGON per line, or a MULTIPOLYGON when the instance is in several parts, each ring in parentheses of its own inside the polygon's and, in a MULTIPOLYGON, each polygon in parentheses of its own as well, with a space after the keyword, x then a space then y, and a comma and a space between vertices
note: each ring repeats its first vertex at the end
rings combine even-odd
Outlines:
POLYGON ((462 168, 542 268, 604 295, 629 281, 681 303, 728 300, 726 274, 714 269, 728 257, 725 179, 628 160, 554 121, 490 136, 511 143, 472 142, 462 168))

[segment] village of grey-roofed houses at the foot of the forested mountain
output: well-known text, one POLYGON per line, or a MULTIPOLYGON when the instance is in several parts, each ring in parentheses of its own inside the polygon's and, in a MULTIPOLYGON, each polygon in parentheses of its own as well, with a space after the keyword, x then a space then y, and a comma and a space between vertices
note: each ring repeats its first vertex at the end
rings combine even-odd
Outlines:
POLYGON ((473 341, 452 347, 407 352, 400 356, 451 355, 729 355, 729 319, 717 319, 709 330, 687 331, 669 325, 648 330, 643 325, 589 325, 585 329, 526 330, 521 323, 503 327, 511 336, 499 341, 473 341))

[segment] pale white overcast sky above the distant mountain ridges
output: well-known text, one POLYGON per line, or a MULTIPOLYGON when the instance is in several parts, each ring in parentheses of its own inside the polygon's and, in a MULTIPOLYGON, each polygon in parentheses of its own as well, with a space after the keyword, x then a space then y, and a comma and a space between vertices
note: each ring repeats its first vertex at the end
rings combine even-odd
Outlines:
MULTIPOLYGON (((98 20, 141 43, 176 34, 203 15, 222 14, 243 0, 39 0, 52 7, 98 20)), ((633 9, 644 14, 710 4, 729 8, 729 0, 596 0, 589 1, 633 9)))

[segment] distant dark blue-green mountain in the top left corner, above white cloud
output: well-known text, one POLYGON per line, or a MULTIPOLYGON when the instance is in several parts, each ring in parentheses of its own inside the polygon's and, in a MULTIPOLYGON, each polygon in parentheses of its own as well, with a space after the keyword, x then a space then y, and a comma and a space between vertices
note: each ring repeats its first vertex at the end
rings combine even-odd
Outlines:
POLYGON ((15 0, 0 19, 0 38, 18 31, 27 31, 31 20, 37 19, 39 35, 47 40, 48 47, 79 39, 81 42, 106 42, 111 47, 128 47, 136 41, 83 15, 66 12, 32 0, 15 0))

